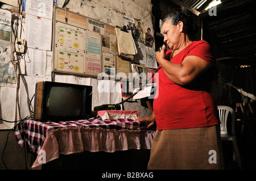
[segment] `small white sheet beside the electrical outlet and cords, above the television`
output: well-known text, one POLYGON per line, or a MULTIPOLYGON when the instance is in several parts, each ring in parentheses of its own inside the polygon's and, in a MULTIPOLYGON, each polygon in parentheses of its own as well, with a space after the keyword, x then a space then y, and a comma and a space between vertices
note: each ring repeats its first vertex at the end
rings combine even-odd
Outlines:
POLYGON ((46 77, 46 50, 28 48, 26 60, 27 75, 46 77))

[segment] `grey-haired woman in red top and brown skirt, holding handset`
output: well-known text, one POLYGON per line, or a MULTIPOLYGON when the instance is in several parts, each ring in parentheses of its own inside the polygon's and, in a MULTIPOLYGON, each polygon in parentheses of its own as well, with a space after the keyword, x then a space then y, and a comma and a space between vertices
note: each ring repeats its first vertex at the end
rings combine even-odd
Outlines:
POLYGON ((191 17, 178 11, 163 21, 171 51, 165 53, 163 45, 156 52, 162 69, 154 113, 136 120, 156 122, 148 169, 223 168, 217 107, 209 93, 215 61, 206 41, 191 40, 196 30, 191 17))

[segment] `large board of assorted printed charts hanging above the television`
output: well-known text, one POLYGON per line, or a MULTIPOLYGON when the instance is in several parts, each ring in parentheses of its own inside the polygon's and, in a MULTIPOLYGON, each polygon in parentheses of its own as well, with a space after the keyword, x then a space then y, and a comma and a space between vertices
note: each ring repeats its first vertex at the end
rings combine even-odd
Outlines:
POLYGON ((115 27, 55 8, 53 71, 114 77, 118 43, 115 27))

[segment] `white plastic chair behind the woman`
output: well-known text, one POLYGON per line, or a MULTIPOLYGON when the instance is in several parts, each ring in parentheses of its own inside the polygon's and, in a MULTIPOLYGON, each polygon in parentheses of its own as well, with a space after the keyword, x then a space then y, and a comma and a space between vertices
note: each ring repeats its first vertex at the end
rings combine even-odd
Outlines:
POLYGON ((229 106, 218 106, 218 115, 220 116, 220 122, 221 122, 221 125, 220 125, 221 140, 232 141, 237 166, 239 169, 242 169, 242 163, 241 163, 240 153, 238 150, 236 131, 235 131, 236 116, 235 116, 234 110, 229 106), (228 133, 227 125, 226 125, 229 113, 232 116, 231 134, 228 133))

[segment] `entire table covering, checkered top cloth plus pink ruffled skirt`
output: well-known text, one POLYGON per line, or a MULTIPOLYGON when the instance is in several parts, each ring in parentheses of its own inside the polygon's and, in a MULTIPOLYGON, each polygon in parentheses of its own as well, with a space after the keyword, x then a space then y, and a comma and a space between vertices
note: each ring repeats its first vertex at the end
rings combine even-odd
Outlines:
POLYGON ((20 147, 25 138, 31 151, 38 154, 31 169, 42 169, 44 163, 59 158, 59 154, 151 149, 155 131, 148 131, 146 127, 147 123, 130 119, 58 123, 28 119, 16 127, 15 136, 20 147))

